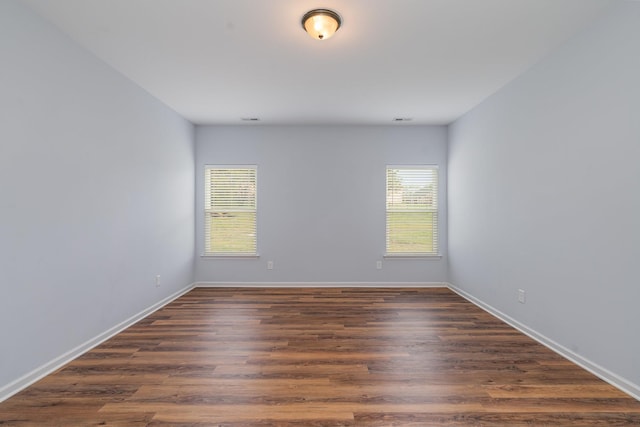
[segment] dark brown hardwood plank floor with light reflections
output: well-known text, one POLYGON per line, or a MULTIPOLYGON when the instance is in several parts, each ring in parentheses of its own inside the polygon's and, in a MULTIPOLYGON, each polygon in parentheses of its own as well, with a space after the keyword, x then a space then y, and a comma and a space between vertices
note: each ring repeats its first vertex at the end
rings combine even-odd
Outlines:
POLYGON ((15 426, 638 426, 448 289, 194 289, 0 404, 15 426))

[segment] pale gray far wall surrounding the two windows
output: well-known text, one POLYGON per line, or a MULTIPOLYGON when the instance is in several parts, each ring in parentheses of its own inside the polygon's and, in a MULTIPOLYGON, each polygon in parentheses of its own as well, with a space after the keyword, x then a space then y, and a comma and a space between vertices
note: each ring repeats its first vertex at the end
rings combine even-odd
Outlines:
POLYGON ((442 282, 442 259, 391 259, 385 250, 385 166, 438 164, 441 251, 447 253, 445 127, 202 126, 196 128, 196 194, 206 164, 258 165, 258 259, 201 258, 200 282, 442 282), (274 269, 267 270, 267 261, 274 269))

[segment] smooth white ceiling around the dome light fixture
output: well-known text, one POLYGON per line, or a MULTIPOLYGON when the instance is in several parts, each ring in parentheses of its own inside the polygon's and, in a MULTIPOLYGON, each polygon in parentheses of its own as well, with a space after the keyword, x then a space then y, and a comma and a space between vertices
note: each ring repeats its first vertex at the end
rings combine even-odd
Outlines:
POLYGON ((197 124, 446 124, 615 0, 24 0, 197 124), (300 19, 337 11, 311 39, 300 19))

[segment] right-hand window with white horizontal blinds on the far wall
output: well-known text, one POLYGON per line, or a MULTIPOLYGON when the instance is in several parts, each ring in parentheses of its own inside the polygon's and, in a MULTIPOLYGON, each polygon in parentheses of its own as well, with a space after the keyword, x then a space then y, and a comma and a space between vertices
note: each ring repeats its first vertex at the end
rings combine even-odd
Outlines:
POLYGON ((437 256, 437 166, 387 166, 388 256, 437 256))

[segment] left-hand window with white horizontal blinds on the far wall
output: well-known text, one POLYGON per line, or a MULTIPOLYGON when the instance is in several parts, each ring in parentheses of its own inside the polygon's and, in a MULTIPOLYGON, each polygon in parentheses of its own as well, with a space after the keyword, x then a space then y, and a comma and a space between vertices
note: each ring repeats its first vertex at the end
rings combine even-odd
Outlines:
POLYGON ((257 255, 256 178, 256 166, 205 168, 205 255, 257 255))

